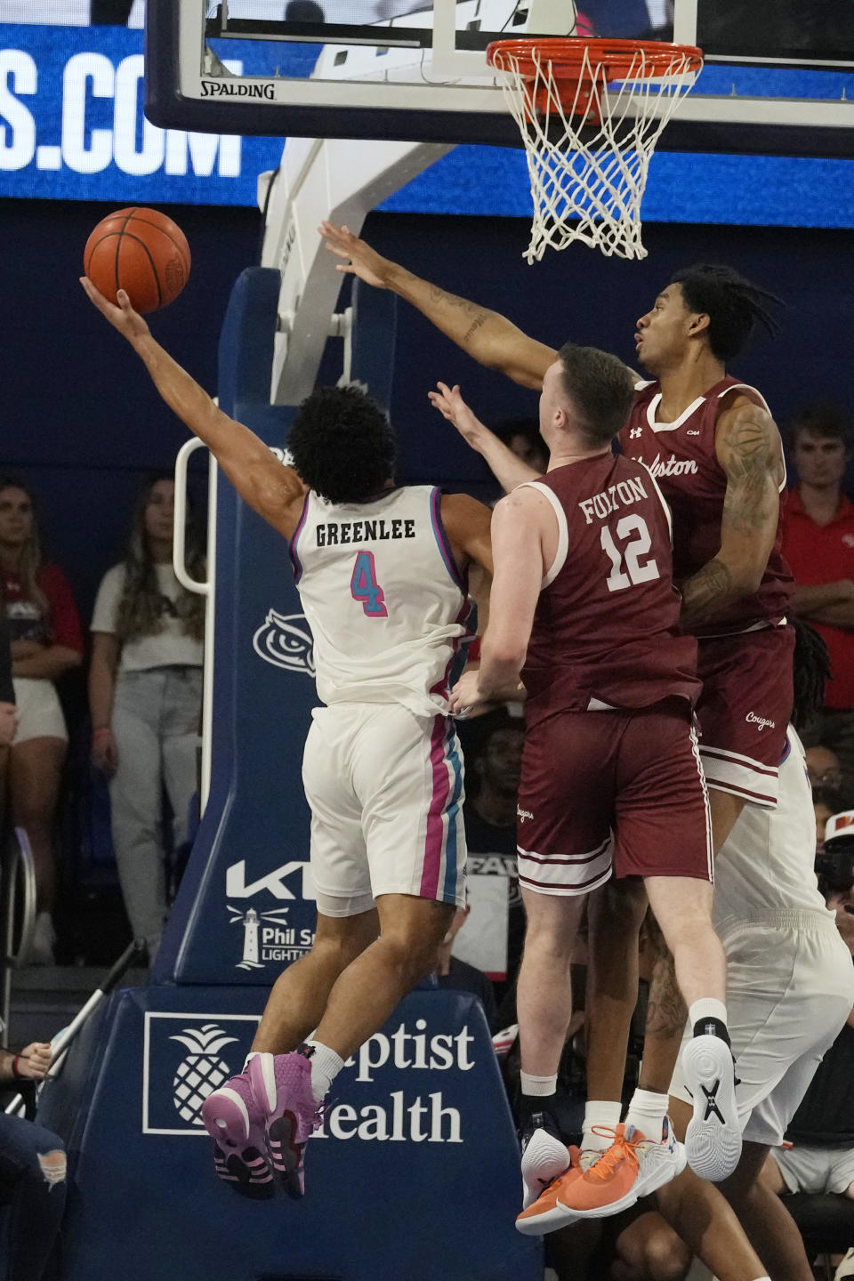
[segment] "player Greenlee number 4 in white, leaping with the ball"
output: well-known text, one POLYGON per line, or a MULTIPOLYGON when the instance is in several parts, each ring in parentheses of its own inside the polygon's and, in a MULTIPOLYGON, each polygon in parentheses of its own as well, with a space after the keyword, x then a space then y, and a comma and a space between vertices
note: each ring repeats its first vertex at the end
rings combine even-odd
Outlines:
POLYGON ((332 1080, 435 968, 465 906, 447 680, 465 635, 469 566, 492 573, 492 514, 466 494, 394 487, 392 428, 355 387, 303 401, 288 438, 294 466, 283 466, 175 364, 124 292, 113 306, 82 283, 241 497, 291 541, 314 634, 326 705, 303 755, 316 938, 277 980, 243 1072, 202 1112, 222 1179, 264 1195, 275 1173, 298 1195, 332 1080))

